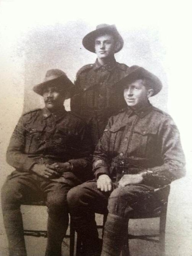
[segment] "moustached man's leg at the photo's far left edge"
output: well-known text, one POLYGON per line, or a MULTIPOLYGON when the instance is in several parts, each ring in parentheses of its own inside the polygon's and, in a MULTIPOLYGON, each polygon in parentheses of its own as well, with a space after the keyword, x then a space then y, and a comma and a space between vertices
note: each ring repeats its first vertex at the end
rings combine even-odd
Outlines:
POLYGON ((20 206, 24 198, 32 197, 35 188, 30 178, 25 176, 12 178, 11 175, 2 187, 2 212, 9 256, 27 255, 20 206))

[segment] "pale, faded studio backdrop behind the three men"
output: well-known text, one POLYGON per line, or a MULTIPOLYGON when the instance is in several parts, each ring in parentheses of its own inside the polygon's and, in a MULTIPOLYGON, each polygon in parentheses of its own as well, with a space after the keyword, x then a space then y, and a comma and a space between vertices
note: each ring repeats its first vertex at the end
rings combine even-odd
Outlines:
MULTIPOLYGON (((187 22, 184 23, 187 8, 181 22, 177 14, 183 12, 183 5, 174 4, 173 11, 172 5, 160 6, 155 1, 146 1, 145 5, 119 1, 118 8, 100 1, 94 5, 86 1, 67 5, 60 1, 54 5, 21 2, 2 1, 0 5, 0 185, 12 170, 5 162, 5 152, 18 118, 22 112, 43 107, 42 98, 32 91, 33 85, 42 82, 46 71, 52 68, 62 69, 74 81, 78 69, 96 58, 82 46, 82 38, 97 24, 116 24, 124 39, 123 49, 115 55, 117 61, 143 66, 162 80, 162 91, 150 101, 171 114, 181 132, 187 176, 171 186, 166 249, 168 256, 191 256, 192 154, 187 119, 191 96, 190 91, 183 91, 189 81, 186 75, 190 74, 185 59, 190 45, 186 39, 187 22), (110 12, 106 15, 107 10, 110 12)), ((69 103, 65 103, 67 110, 69 103)), ((5 232, 1 216, 0 231, 5 232)))

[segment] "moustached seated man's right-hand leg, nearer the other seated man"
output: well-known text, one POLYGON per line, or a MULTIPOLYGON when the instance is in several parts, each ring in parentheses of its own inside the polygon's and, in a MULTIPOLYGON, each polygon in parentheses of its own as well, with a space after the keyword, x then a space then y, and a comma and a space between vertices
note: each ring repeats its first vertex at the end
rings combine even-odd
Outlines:
POLYGON ((57 182, 43 187, 48 207, 46 256, 61 256, 61 245, 69 223, 66 198, 71 187, 57 182))

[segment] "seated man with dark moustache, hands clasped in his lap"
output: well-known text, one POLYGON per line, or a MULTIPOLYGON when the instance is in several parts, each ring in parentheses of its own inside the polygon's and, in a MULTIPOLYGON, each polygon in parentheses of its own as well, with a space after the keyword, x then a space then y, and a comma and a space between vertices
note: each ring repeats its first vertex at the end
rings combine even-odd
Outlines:
POLYGON ((86 123, 63 107, 72 87, 61 70, 47 71, 44 82, 33 88, 43 96, 45 107, 24 114, 11 137, 7 162, 16 170, 2 188, 9 256, 27 255, 20 205, 39 200, 40 194, 48 207, 46 256, 61 256, 69 221, 67 192, 90 179, 86 123))

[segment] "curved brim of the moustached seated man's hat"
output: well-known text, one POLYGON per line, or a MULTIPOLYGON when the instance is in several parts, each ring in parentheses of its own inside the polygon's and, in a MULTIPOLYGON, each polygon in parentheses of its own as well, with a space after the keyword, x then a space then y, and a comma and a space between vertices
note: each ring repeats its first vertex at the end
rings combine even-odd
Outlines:
POLYGON ((63 93, 66 94, 66 99, 70 98, 72 95, 72 91, 74 89, 74 84, 69 80, 69 78, 65 76, 61 76, 58 78, 51 79, 49 81, 40 83, 38 85, 35 85, 33 87, 33 91, 36 92, 37 94, 43 96, 43 90, 48 87, 53 85, 59 88, 59 90, 63 93))

